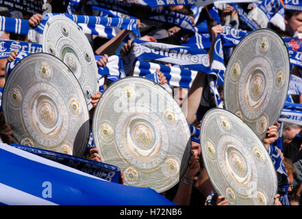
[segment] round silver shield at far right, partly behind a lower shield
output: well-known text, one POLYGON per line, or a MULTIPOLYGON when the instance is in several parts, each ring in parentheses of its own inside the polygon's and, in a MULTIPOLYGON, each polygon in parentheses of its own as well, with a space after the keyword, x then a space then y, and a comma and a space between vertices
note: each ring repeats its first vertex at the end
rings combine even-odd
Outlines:
POLYGON ((231 55, 223 92, 225 109, 247 123, 260 140, 279 118, 290 81, 284 40, 270 29, 245 36, 231 55))

